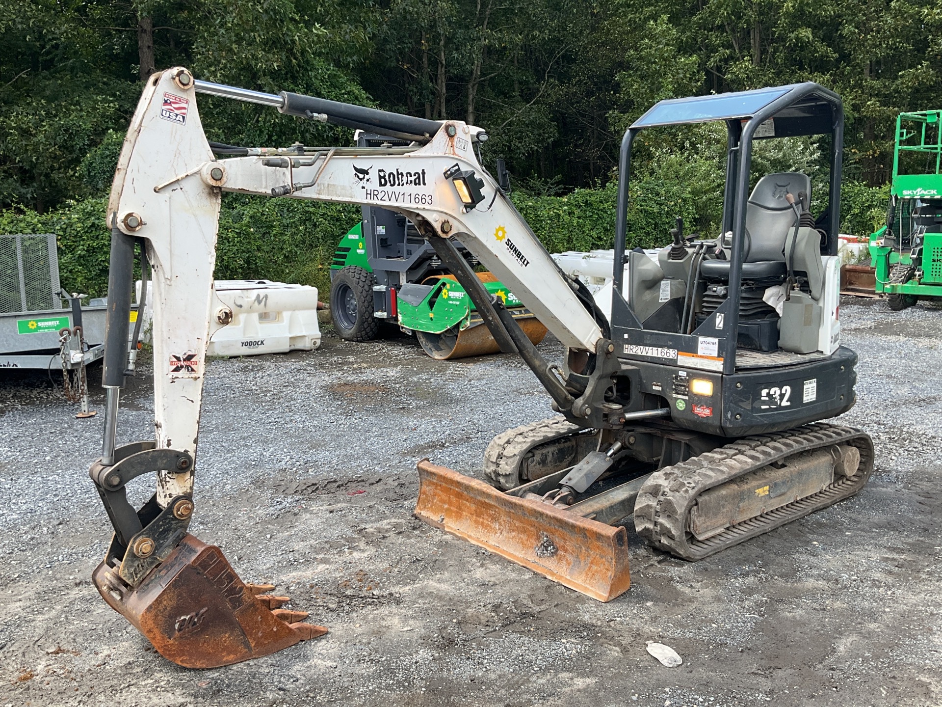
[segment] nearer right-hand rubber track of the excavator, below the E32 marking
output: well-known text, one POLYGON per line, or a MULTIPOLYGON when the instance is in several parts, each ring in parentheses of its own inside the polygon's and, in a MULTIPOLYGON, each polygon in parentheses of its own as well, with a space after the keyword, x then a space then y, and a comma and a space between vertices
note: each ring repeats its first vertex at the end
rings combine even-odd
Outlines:
POLYGON ((660 550, 685 560, 700 560, 853 496, 867 484, 872 470, 873 441, 855 427, 816 423, 788 432, 744 437, 652 474, 635 503, 635 530, 660 550), (841 477, 816 494, 744 520, 707 540, 697 540, 687 532, 690 509, 707 489, 792 454, 834 444, 849 444, 860 451, 860 468, 850 479, 841 477))

